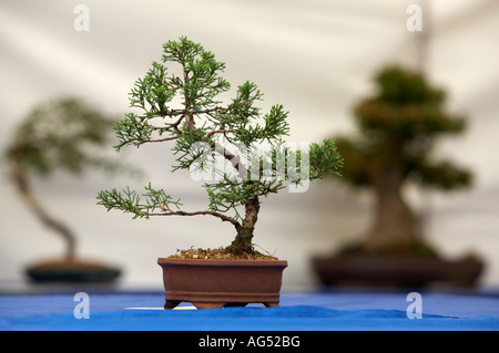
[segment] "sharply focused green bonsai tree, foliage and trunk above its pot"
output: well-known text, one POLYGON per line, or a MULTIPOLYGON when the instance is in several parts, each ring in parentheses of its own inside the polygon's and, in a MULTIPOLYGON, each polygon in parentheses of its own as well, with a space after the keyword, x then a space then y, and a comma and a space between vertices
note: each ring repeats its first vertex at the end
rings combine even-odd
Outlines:
POLYGON ((203 185, 207 209, 185 211, 180 199, 151 184, 144 194, 112 189, 99 193, 98 199, 108 210, 120 209, 134 218, 216 217, 235 227, 236 236, 227 250, 252 253, 261 197, 283 189, 285 181, 302 185, 336 174, 343 162, 333 141, 312 144, 308 152, 286 146, 282 137, 288 134, 288 112, 274 105, 262 114, 256 103, 263 94, 249 81, 224 104, 222 95, 231 89, 221 76, 224 69, 225 64, 198 43, 186 38, 166 42, 162 62, 153 62, 130 92, 131 107, 139 113, 125 114, 115 125, 116 150, 172 142, 177 156, 172 172, 211 170, 216 177, 203 185), (170 71, 170 64, 177 71, 170 71), (267 148, 262 153, 264 144, 267 148))

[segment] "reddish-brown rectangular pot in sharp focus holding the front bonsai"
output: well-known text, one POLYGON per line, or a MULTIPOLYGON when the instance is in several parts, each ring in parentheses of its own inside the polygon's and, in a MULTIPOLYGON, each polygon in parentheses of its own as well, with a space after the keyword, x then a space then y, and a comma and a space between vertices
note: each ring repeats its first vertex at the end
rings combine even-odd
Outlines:
POLYGON ((191 302, 197 309, 263 303, 278 307, 287 261, 159 258, 165 309, 191 302))

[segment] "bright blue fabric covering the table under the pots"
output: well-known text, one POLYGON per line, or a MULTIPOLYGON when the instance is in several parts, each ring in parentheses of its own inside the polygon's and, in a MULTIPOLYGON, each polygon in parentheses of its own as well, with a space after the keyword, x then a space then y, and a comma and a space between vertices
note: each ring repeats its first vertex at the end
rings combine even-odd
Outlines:
POLYGON ((284 293, 279 308, 211 310, 157 310, 160 292, 89 293, 89 319, 74 318, 73 295, 0 295, 0 330, 499 330, 496 295, 421 293, 422 319, 408 319, 407 293, 284 293))

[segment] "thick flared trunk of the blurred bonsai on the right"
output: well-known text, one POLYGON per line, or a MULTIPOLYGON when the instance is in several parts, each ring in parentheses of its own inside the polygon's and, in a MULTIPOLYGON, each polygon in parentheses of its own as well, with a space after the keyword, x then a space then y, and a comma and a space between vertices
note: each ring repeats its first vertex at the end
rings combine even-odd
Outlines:
POLYGON ((417 221, 401 196, 405 180, 403 143, 393 138, 384 153, 384 166, 374 179, 376 214, 364 249, 404 250, 419 240, 417 221))

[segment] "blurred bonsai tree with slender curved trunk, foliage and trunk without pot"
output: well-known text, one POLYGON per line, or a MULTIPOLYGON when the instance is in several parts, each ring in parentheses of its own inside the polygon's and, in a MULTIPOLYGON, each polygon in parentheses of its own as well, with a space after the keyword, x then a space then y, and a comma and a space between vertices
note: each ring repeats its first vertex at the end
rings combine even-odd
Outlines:
POLYGON ((65 241, 68 260, 75 256, 75 236, 34 197, 30 177, 48 178, 57 170, 74 176, 89 168, 116 170, 119 164, 99 156, 99 148, 110 143, 114 122, 75 98, 60 98, 31 111, 4 152, 13 185, 38 219, 65 241))

